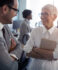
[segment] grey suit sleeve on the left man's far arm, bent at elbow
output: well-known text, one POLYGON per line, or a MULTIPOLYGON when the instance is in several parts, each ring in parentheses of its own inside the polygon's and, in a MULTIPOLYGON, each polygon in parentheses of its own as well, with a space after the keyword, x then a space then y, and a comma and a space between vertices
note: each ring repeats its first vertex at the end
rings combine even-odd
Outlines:
POLYGON ((20 59, 21 54, 22 54, 22 47, 20 46, 20 42, 18 40, 16 40, 16 38, 14 37, 13 33, 9 30, 9 28, 7 28, 7 30, 8 30, 9 35, 11 36, 11 38, 13 38, 16 42, 16 48, 10 54, 13 54, 18 59, 20 59))

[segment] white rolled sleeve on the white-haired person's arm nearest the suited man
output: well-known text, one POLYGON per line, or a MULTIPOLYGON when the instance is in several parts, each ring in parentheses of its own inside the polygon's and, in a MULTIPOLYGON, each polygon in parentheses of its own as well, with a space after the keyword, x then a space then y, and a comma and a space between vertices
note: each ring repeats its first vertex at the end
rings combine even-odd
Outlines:
POLYGON ((34 47, 34 37, 35 37, 35 31, 32 30, 31 36, 30 36, 29 40, 27 41, 26 45, 23 48, 23 50, 26 53, 30 53, 32 51, 32 48, 34 47))

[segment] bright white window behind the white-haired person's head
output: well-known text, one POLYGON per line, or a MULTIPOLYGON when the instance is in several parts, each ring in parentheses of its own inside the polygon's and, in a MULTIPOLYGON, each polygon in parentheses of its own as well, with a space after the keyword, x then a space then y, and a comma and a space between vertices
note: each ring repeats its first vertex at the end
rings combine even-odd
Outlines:
MULTIPOLYGON (((41 9, 44 5, 46 4, 53 4, 58 8, 58 2, 57 0, 27 0, 27 9, 32 10, 32 17, 33 19, 31 20, 31 26, 35 27, 37 23, 41 22, 40 19, 40 13, 41 9)), ((55 21, 55 25, 57 25, 57 20, 55 21)), ((38 24, 40 25, 40 24, 38 24)))

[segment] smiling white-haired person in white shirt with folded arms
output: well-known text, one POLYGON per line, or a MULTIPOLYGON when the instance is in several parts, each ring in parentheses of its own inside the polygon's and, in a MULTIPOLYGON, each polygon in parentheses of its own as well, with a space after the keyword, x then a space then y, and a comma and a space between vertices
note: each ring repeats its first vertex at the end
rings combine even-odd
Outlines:
POLYGON ((32 30, 31 36, 24 46, 24 51, 29 53, 29 56, 35 57, 32 58, 29 70, 58 70, 58 29, 53 25, 56 18, 55 6, 48 4, 42 8, 41 20, 44 26, 32 30), (47 50, 43 48, 44 45, 40 48, 43 38, 52 41, 52 45, 57 42, 56 48, 47 50))

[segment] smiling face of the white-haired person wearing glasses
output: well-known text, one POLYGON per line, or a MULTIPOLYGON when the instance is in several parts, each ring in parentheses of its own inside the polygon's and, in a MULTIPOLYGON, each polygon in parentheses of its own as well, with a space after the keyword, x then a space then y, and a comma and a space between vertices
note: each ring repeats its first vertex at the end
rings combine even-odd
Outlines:
POLYGON ((50 25, 53 24, 53 17, 54 15, 51 14, 50 10, 42 9, 41 20, 45 27, 50 27, 50 25))

